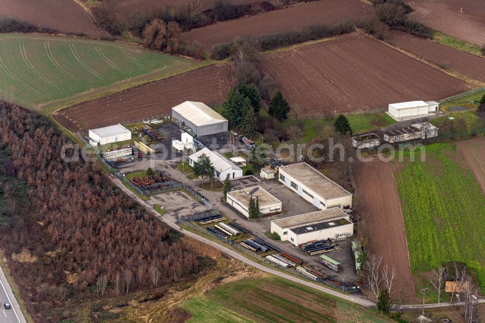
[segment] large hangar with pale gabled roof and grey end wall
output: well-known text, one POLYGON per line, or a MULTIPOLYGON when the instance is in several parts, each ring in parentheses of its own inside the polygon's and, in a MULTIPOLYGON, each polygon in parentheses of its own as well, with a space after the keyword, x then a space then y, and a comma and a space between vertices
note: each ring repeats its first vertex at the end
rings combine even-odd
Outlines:
POLYGON ((227 131, 227 119, 202 102, 185 101, 172 108, 172 118, 183 122, 197 137, 227 131))

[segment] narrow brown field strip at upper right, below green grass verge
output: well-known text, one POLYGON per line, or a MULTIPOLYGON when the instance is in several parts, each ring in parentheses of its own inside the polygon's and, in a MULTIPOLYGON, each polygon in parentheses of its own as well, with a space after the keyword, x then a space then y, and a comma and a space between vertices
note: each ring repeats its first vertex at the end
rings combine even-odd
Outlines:
MULTIPOLYGON (((485 31, 484 31, 485 32, 485 31)), ((389 43, 473 80, 485 81, 485 58, 404 32, 392 32, 389 43)))

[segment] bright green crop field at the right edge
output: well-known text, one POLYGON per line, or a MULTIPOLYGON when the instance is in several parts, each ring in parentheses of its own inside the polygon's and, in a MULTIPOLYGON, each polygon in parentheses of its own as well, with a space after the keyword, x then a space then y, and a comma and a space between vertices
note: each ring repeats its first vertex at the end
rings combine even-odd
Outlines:
POLYGON ((417 274, 456 260, 485 291, 485 196, 456 146, 426 146, 426 161, 396 174, 411 269, 417 274))

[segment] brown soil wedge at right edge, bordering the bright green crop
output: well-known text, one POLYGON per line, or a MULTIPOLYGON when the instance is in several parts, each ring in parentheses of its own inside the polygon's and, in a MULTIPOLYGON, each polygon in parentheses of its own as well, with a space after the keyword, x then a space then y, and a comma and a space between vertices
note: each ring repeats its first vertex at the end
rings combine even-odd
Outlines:
POLYGON ((465 157, 468 167, 485 194, 485 138, 460 141, 456 143, 456 146, 465 157))

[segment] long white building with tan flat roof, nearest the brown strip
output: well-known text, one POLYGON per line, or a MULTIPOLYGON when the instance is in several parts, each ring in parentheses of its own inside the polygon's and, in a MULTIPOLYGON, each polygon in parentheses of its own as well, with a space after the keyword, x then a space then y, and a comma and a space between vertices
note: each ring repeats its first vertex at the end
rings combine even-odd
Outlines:
POLYGON ((279 181, 321 210, 352 208, 352 194, 306 162, 279 167, 279 181))

